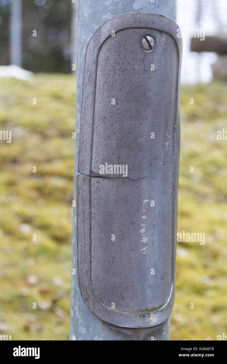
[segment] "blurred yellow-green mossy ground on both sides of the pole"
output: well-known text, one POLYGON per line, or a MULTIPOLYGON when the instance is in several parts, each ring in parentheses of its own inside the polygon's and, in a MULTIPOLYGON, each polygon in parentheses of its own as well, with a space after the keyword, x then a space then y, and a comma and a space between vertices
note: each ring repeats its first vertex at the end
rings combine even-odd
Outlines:
MULTIPOLYGON (((12 340, 69 339, 75 86, 71 75, 1 78, 12 142, 0 142, 0 333, 12 340)), ((182 87, 178 232, 206 243, 178 243, 172 340, 227 334, 226 119, 226 83, 182 87)))

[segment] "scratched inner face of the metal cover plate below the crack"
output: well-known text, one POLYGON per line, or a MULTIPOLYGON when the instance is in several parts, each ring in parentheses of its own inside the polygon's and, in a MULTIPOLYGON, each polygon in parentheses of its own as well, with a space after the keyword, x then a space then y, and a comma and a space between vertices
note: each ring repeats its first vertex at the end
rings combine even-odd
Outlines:
POLYGON ((163 201, 161 185, 150 178, 90 180, 95 295, 107 307, 114 302, 116 310, 125 312, 165 305, 172 288, 172 193, 163 201), (156 197, 155 209, 151 196, 156 197))

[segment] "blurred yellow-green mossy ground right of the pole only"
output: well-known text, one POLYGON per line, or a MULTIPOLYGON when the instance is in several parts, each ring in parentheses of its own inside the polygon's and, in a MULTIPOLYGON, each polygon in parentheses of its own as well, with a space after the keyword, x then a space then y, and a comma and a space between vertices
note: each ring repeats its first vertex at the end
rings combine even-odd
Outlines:
POLYGON ((227 333, 227 141, 216 139, 226 118, 226 83, 182 87, 177 231, 204 232, 206 242, 178 243, 172 340, 227 333))

